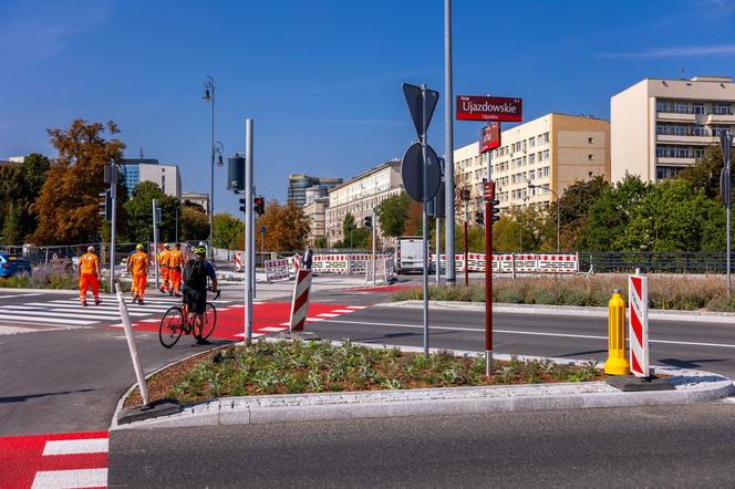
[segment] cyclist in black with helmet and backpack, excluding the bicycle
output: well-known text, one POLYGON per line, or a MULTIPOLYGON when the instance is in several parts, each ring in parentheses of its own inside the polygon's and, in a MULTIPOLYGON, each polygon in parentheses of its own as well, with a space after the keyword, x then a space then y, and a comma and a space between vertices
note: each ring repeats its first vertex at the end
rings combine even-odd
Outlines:
POLYGON ((189 259, 184 267, 184 280, 182 291, 184 292, 184 315, 188 316, 189 312, 196 314, 194 320, 194 337, 198 344, 207 344, 206 340, 201 339, 204 329, 204 311, 207 306, 207 279, 211 279, 213 292, 217 292, 217 274, 215 267, 207 260, 207 249, 197 247, 194 249, 196 258, 189 259))

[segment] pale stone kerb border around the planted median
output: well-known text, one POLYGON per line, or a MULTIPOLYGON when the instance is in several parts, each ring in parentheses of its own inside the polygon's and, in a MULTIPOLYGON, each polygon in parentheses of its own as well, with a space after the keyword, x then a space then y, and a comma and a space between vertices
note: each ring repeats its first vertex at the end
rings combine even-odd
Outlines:
MULTIPOLYGON (((422 351, 421 347, 401 350, 422 351)), ((480 352, 455 353, 463 356, 480 354, 480 352)), ((495 357, 510 360, 510 355, 495 355, 495 357)), ((537 357, 521 356, 521 358, 537 357)), ((563 364, 582 362, 567 358, 550 360, 563 364)), ((670 375, 675 389, 623 393, 604 382, 587 382, 225 397, 185 406, 184 410, 176 415, 127 425, 117 425, 118 410, 116 410, 110 429, 653 406, 711 402, 735 394, 733 382, 722 375, 674 367, 654 370, 656 373, 670 375)), ((118 409, 124 398, 125 396, 118 403, 118 409)))

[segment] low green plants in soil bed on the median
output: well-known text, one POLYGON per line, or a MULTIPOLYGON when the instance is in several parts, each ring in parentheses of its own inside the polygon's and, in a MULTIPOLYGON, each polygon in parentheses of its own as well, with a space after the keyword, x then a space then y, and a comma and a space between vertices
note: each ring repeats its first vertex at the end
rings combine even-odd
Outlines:
MULTIPOLYGON (((485 357, 456 357, 442 352, 428 357, 397 348, 369 348, 344 340, 266 342, 229 346, 188 358, 148 381, 153 400, 175 398, 189 404, 213 397, 343 391, 408 389, 587 382, 604 378, 596 362, 581 366, 545 360, 494 362, 485 376, 485 357)), ((137 391, 125 405, 141 403, 137 391)))

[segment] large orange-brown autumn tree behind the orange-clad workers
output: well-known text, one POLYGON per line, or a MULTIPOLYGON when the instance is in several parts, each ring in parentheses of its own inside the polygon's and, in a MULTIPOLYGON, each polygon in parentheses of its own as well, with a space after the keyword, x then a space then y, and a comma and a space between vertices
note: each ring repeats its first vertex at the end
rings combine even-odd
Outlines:
POLYGON ((120 132, 115 123, 87 124, 75 119, 68 129, 50 129, 51 144, 59 152, 44 180, 33 210, 38 228, 31 236, 37 245, 89 242, 100 235, 99 194, 105 189, 103 167, 120 163, 125 145, 105 138, 120 132))

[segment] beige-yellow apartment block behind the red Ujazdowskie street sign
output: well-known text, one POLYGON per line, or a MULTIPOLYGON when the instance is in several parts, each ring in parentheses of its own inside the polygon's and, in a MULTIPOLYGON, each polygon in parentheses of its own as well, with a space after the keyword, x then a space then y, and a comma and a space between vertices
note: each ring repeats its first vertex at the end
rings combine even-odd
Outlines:
MULTIPOLYGON (((455 195, 470 190, 466 211, 472 221, 483 205, 483 179, 491 155, 491 178, 500 209, 513 206, 548 206, 553 194, 576 181, 610 175, 610 123, 587 115, 551 113, 505 129, 501 146, 479 155, 478 143, 454 150, 455 195), (529 188, 528 184, 539 188, 529 188)), ((457 204, 457 216, 465 206, 457 204)))

